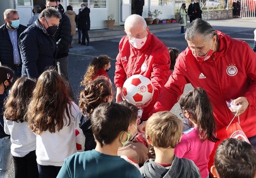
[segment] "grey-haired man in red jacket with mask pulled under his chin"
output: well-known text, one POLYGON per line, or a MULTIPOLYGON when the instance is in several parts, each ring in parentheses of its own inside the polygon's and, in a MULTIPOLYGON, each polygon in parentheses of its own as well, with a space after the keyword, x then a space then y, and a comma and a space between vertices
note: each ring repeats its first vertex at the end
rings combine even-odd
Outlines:
MULTIPOLYGON (((229 125, 239 105, 240 125, 256 147, 256 54, 251 47, 214 30, 209 23, 196 19, 186 30, 188 47, 176 65, 154 106, 154 112, 170 110, 183 93, 185 84, 201 87, 213 104, 217 129, 229 125)), ((233 123, 238 122, 235 117, 233 123)))

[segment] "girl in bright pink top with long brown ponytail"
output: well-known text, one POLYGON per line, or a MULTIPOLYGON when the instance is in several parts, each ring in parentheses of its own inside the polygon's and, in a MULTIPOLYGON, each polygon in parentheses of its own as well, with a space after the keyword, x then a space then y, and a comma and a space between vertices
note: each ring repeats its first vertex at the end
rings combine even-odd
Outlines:
POLYGON ((202 88, 195 88, 180 98, 180 107, 183 117, 189 119, 192 128, 183 132, 182 140, 177 144, 174 154, 179 158, 192 160, 199 168, 201 177, 205 178, 209 175, 209 156, 214 142, 218 141, 213 107, 202 88))

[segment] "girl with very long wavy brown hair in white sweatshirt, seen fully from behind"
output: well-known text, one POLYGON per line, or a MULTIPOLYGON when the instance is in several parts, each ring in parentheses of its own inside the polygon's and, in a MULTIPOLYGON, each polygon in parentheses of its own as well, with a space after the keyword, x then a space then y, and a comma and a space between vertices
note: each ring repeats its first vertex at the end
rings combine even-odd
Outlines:
POLYGON ((77 152, 74 128, 78 128, 81 116, 58 72, 43 72, 27 110, 29 127, 36 134, 40 177, 56 177, 65 158, 77 152))

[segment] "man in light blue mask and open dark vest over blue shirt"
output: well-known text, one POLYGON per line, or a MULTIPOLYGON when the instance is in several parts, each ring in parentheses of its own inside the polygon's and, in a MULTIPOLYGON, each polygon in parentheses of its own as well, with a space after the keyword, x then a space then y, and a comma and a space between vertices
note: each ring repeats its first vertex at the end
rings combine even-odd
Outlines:
POLYGON ((0 62, 15 72, 15 77, 21 77, 21 56, 18 49, 18 37, 27 28, 19 22, 18 11, 4 11, 5 24, 0 27, 0 62))

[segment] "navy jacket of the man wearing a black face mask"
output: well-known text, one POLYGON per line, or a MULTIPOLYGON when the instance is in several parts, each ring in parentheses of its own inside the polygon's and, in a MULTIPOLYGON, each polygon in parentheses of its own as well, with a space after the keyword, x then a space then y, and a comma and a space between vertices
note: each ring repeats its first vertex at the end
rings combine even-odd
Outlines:
POLYGON ((47 34, 39 20, 20 34, 18 45, 23 62, 23 76, 38 78, 47 68, 55 66, 57 45, 54 36, 47 34))

